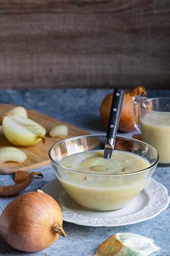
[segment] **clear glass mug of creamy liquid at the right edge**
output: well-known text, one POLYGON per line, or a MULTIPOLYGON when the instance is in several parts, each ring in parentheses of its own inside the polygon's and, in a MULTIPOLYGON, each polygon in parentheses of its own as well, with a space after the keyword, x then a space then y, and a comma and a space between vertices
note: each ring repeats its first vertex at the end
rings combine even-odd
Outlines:
POLYGON ((144 142, 154 146, 159 162, 170 163, 170 98, 133 98, 134 126, 144 142))

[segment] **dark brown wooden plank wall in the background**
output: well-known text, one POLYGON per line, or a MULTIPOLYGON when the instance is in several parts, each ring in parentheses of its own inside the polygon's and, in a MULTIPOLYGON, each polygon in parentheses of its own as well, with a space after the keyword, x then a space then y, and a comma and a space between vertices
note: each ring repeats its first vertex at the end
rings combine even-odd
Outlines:
POLYGON ((0 88, 170 89, 169 0, 1 0, 0 88))

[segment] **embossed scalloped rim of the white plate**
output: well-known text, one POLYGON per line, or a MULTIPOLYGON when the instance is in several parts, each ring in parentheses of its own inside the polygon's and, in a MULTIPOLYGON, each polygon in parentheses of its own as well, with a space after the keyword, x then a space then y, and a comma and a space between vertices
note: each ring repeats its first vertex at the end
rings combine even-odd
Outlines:
MULTIPOLYGON (((56 178, 56 179, 57 179, 57 178, 56 178)), ((55 179, 55 180, 56 180, 56 179, 55 179)), ((52 181, 54 181, 54 180, 52 180, 52 181)), ((44 186, 42 186, 41 189, 44 190, 44 192, 45 192, 45 189, 46 189, 47 185, 48 185, 49 183, 51 183, 52 181, 47 182, 44 186)), ((158 185, 161 187, 162 191, 164 191, 164 193, 165 193, 165 195, 166 195, 166 202, 164 203, 164 205, 162 206, 161 209, 158 209, 158 211, 157 211, 155 214, 152 214, 152 215, 149 216, 149 217, 145 217, 145 218, 138 219, 138 220, 136 220, 136 221, 131 221, 131 222, 128 222, 128 221, 127 221, 127 222, 120 223, 120 224, 107 224, 107 223, 92 224, 92 223, 88 223, 88 220, 86 221, 86 223, 82 223, 82 222, 79 222, 79 220, 75 221, 75 220, 68 219, 68 217, 65 216, 64 211, 66 211, 67 214, 70 214, 70 215, 73 214, 73 215, 76 216, 76 215, 78 215, 78 214, 77 214, 76 212, 74 212, 74 211, 71 211, 70 209, 67 209, 67 207, 65 207, 65 206, 64 206, 65 210, 62 210, 63 206, 61 206, 61 210, 62 210, 62 213, 63 213, 63 221, 69 222, 69 223, 73 223, 73 224, 76 224, 76 225, 81 225, 81 226, 91 226, 91 227, 118 227, 118 226, 125 226, 125 225, 136 224, 136 223, 139 223, 139 222, 142 222, 142 221, 147 221, 147 220, 153 219, 153 218, 155 218, 156 216, 158 216, 163 210, 165 210, 165 209, 168 207, 170 198, 169 198, 169 196, 168 196, 168 194, 167 194, 168 191, 167 191, 166 187, 165 187, 163 184, 159 183, 158 181, 156 181, 156 180, 153 179, 153 178, 151 178, 151 180, 149 181, 149 183, 147 184, 147 186, 149 186, 150 183, 158 184, 158 185)), ((145 188, 144 188, 144 190, 145 190, 145 188)), ((146 194, 148 195, 148 192, 146 192, 146 194)), ((59 203, 59 205, 60 205, 60 203, 59 203)), ((146 206, 145 206, 145 207, 146 207, 146 206)), ((144 210, 145 207, 143 207, 142 210, 144 210)), ((88 211, 89 211, 89 210, 88 210, 88 211)), ((137 212, 135 212, 135 213, 133 213, 133 214, 137 214, 137 212)), ((129 214, 129 216, 131 216, 131 215, 133 215, 133 214, 129 214)), ((85 216, 85 215, 81 215, 81 214, 79 214, 79 215, 82 216, 82 217, 84 217, 84 218, 102 219, 102 218, 99 218, 99 217, 89 217, 89 216, 85 216)), ((124 217, 125 217, 125 216, 124 216, 124 217)), ((114 218, 118 218, 118 217, 114 217, 114 218)), ((105 219, 106 219, 106 218, 105 218, 105 219)), ((111 218, 108 218, 108 219, 111 219, 111 218)))

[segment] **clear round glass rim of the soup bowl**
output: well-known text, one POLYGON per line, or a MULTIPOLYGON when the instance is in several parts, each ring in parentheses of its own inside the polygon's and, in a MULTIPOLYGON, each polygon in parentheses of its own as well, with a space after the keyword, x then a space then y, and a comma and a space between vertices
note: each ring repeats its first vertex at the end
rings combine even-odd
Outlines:
MULTIPOLYGON (((149 169, 152 169, 153 167, 157 166, 158 162, 159 162, 159 154, 158 154, 158 151, 156 150, 155 147, 151 146, 150 144, 146 143, 146 142, 143 142, 141 140, 137 140, 137 139, 134 139, 134 138, 131 138, 131 137, 126 137, 126 136, 116 136, 116 138, 120 138, 120 139, 128 139, 128 140, 132 140, 132 141, 136 141, 138 143, 142 143, 142 144, 145 144, 149 147, 152 148, 152 150, 155 151, 155 153, 157 154, 157 159, 156 161, 149 167, 147 168, 144 168, 142 170, 138 170, 137 172, 132 172, 132 173, 126 173, 126 174, 96 174, 96 173, 87 173, 87 172, 81 172, 80 170, 75 170, 75 169, 72 169, 72 168, 67 168, 67 167, 64 167, 63 165, 61 165, 58 161, 55 161, 52 156, 51 156, 51 152, 53 150, 53 148, 55 146, 57 146, 58 144, 60 143, 63 143, 65 141, 69 141, 69 140, 75 140, 75 139, 81 139, 81 138, 85 138, 85 137, 106 137, 106 135, 103 135, 103 134, 87 134, 87 135, 81 135, 81 136, 76 136, 76 137, 70 137, 68 139, 63 139, 61 141, 58 141, 57 143, 53 144, 53 146, 51 146, 49 152, 48 152, 48 156, 51 160, 51 162, 53 162, 54 164, 57 164, 58 166, 62 167, 63 169, 65 170, 68 170, 70 172, 74 172, 74 173, 79 173, 79 174, 86 174, 86 175, 96 175, 96 176, 130 176, 130 175, 135 175, 135 174, 138 174, 138 173, 143 173, 143 172, 146 172, 147 170, 149 169)), ((73 155, 73 154, 72 154, 73 155)))

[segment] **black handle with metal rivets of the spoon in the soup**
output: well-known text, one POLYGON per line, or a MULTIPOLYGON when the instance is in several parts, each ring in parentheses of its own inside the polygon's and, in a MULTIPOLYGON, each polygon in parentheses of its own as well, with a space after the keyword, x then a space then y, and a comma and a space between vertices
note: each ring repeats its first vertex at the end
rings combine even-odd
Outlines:
POLYGON ((124 90, 115 89, 113 92, 112 105, 110 110, 109 125, 106 138, 115 138, 118 129, 118 123, 120 119, 120 112, 122 110, 122 104, 124 99, 124 90))

